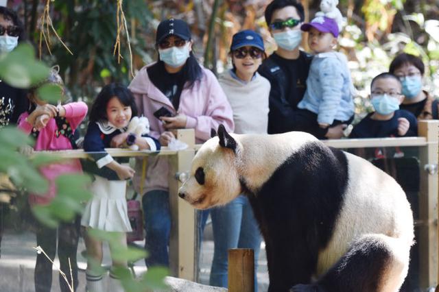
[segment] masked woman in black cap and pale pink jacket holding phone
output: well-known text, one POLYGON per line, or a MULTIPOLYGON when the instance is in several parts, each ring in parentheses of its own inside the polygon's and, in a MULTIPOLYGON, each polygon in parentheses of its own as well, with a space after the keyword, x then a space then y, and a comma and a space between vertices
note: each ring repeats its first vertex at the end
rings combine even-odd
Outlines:
MULTIPOLYGON (((192 51, 189 26, 180 19, 162 21, 156 32, 159 60, 143 67, 134 77, 130 90, 139 112, 150 120, 150 135, 167 146, 175 130, 195 130, 196 143, 211 137, 211 130, 223 124, 233 131, 230 104, 213 73, 198 64, 192 51)), ((141 164, 140 164, 141 165, 141 164)), ((134 177, 139 189, 141 169, 134 177)), ((145 212, 146 265, 169 265, 168 245, 171 229, 167 158, 150 157, 146 175, 143 210, 145 212)))

